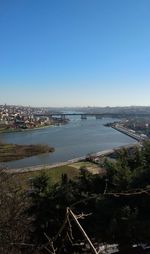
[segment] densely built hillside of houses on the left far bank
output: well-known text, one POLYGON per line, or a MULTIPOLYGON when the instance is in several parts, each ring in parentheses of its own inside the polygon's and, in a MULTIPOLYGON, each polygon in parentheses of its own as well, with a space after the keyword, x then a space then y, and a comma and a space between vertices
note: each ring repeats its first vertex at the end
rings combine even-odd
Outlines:
POLYGON ((47 109, 24 106, 0 105, 0 132, 41 128, 66 123, 59 117, 38 116, 47 109))

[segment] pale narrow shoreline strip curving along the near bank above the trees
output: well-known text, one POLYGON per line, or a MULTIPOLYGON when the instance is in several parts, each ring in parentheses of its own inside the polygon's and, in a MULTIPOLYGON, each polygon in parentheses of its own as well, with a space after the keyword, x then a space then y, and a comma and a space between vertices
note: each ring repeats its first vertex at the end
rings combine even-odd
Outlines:
MULTIPOLYGON (((103 150, 97 153, 93 153, 91 154, 91 156, 106 156, 109 155, 113 152, 115 152, 116 150, 122 149, 122 148, 130 148, 130 147, 134 147, 134 146, 140 146, 140 143, 134 143, 134 144, 129 144, 129 145, 124 145, 124 146, 119 146, 116 148, 112 148, 112 149, 107 149, 107 150, 103 150)), ((43 169, 55 169, 56 167, 61 167, 61 166, 65 166, 65 165, 69 165, 72 163, 76 163, 76 162, 80 162, 80 161, 84 161, 86 159, 87 155, 82 156, 82 157, 77 157, 71 160, 67 160, 64 162, 58 162, 58 163, 53 163, 53 164, 42 164, 42 165, 35 165, 35 166, 27 166, 27 167, 22 167, 22 168, 7 168, 4 169, 4 172, 6 173, 10 173, 10 174, 22 174, 22 173, 27 173, 27 172, 35 172, 35 171, 40 171, 43 169)))

